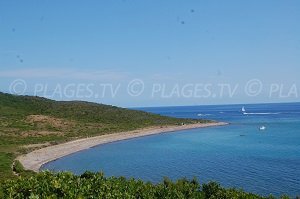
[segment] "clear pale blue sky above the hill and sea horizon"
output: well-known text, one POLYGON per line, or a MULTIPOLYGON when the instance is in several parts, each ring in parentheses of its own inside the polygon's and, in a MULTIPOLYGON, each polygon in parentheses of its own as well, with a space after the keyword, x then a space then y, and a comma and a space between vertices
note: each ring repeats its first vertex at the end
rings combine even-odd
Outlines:
POLYGON ((0 91, 122 107, 300 101, 298 0, 0 0, 0 91))

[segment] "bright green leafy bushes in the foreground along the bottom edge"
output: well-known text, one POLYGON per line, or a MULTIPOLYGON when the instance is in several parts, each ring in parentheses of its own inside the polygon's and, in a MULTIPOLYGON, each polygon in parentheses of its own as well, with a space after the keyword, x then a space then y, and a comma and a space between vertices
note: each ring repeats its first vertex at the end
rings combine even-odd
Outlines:
MULTIPOLYGON (((29 178, 9 180, 2 185, 4 198, 212 198, 260 199, 241 190, 224 189, 211 182, 200 185, 197 180, 165 179, 158 184, 124 177, 104 177, 102 173, 42 172, 29 178)), ((273 198, 273 197, 269 197, 273 198)))

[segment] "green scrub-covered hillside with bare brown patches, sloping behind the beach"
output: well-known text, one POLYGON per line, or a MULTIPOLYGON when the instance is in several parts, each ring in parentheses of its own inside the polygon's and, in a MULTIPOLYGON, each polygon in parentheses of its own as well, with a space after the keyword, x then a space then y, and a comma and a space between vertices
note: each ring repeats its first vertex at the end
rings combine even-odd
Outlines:
POLYGON ((115 106, 0 93, 0 179, 13 177, 17 155, 78 138, 150 126, 208 122, 115 106))

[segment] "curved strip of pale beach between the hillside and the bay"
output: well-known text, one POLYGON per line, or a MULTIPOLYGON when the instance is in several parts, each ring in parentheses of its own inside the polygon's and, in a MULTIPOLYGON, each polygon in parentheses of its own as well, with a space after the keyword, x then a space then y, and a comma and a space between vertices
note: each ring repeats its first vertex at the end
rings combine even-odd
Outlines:
POLYGON ((90 149, 92 147, 107 144, 111 142, 128 140, 137 137, 144 137, 150 135, 157 135, 161 133, 170 133, 175 131, 196 129, 196 128, 206 128, 214 126, 224 126, 228 123, 225 122, 214 122, 214 123, 197 123, 197 124, 187 124, 182 126, 165 126, 165 127, 149 127, 144 129, 137 129, 133 131, 112 133, 106 135, 100 135, 89 138, 81 138, 78 140, 52 145, 45 148, 41 148, 32 151, 28 154, 21 155, 16 158, 23 165, 24 169, 39 172, 40 168, 51 161, 60 159, 62 157, 71 155, 73 153, 90 149))

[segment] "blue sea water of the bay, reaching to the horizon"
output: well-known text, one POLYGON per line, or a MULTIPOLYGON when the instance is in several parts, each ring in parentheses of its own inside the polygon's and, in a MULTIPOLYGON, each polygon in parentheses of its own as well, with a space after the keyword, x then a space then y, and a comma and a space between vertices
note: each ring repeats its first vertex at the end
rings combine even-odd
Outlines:
POLYGON ((141 108, 182 118, 230 122, 124 140, 78 152, 43 169, 104 171, 158 182, 197 177, 268 195, 300 195, 300 103, 141 108), (260 126, 266 126, 260 131, 260 126))

